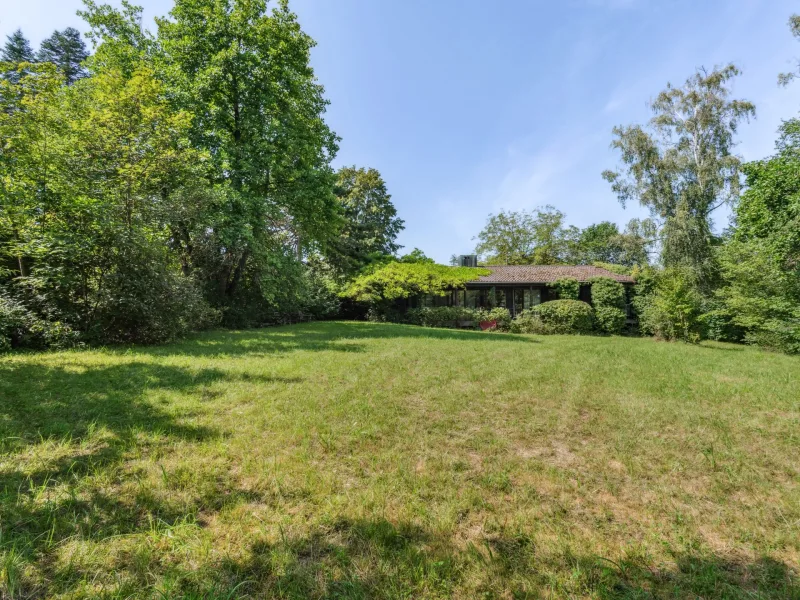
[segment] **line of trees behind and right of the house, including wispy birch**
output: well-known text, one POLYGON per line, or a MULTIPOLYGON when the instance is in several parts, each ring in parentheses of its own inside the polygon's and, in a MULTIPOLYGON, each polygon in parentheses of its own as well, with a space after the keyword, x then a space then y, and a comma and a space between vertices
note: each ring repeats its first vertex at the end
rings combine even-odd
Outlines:
MULTIPOLYGON (((800 36, 800 17, 790 24, 800 36)), ((738 74, 700 69, 655 98, 649 123, 614 129, 621 166, 603 176, 651 218, 580 230, 553 207, 501 212, 476 252, 485 264, 612 263, 639 282, 644 334, 800 352, 800 120, 783 123, 774 156, 743 163, 736 133, 755 107, 730 97, 738 74), (723 206, 732 218, 715 234, 723 206)))

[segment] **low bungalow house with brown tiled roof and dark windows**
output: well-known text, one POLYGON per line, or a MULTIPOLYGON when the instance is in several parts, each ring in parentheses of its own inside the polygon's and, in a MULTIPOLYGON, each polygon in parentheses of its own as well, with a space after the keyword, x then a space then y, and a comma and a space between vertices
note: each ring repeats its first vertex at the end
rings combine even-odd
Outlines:
MULTIPOLYGON (((462 257, 462 264, 472 257, 462 257)), ((477 261, 476 261, 477 262, 477 261)), ((465 266, 474 266, 468 264, 465 266)), ((580 283, 579 299, 591 303, 590 281, 595 277, 610 277, 626 288, 633 286, 629 275, 619 275, 592 266, 560 265, 497 265, 482 266, 491 271, 467 283, 466 289, 453 290, 444 297, 427 296, 419 299, 420 306, 465 306, 467 308, 507 308, 511 315, 548 300, 555 300, 551 284, 571 277, 580 283)))

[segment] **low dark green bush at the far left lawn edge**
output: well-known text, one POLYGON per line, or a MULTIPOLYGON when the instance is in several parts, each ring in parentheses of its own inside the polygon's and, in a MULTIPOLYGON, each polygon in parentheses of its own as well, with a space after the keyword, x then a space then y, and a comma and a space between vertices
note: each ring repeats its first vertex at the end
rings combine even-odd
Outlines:
POLYGON ((70 348, 79 342, 78 333, 68 325, 41 319, 22 303, 0 293, 0 352, 70 348))

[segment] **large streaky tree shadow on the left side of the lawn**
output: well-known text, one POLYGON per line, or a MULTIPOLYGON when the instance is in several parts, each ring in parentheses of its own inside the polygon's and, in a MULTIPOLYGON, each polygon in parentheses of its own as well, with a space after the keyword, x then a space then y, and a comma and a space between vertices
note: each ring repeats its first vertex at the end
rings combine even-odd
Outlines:
MULTIPOLYGON (((2 581, 4 572, 10 577, 3 564, 9 556, 57 579, 48 552, 70 539, 142 533, 154 522, 174 523, 201 508, 251 499, 226 473, 210 472, 196 489, 179 490, 167 502, 137 486, 127 465, 132 452, 168 454, 176 443, 222 436, 187 424, 193 413, 171 413, 148 401, 146 392, 202 396, 209 384, 236 375, 142 361, 86 368, 69 358, 57 366, 36 355, 0 362, 0 597, 14 597, 2 581)), ((165 472, 164 479, 173 475, 165 472)), ((24 597, 48 595, 41 592, 35 584, 24 597)))

